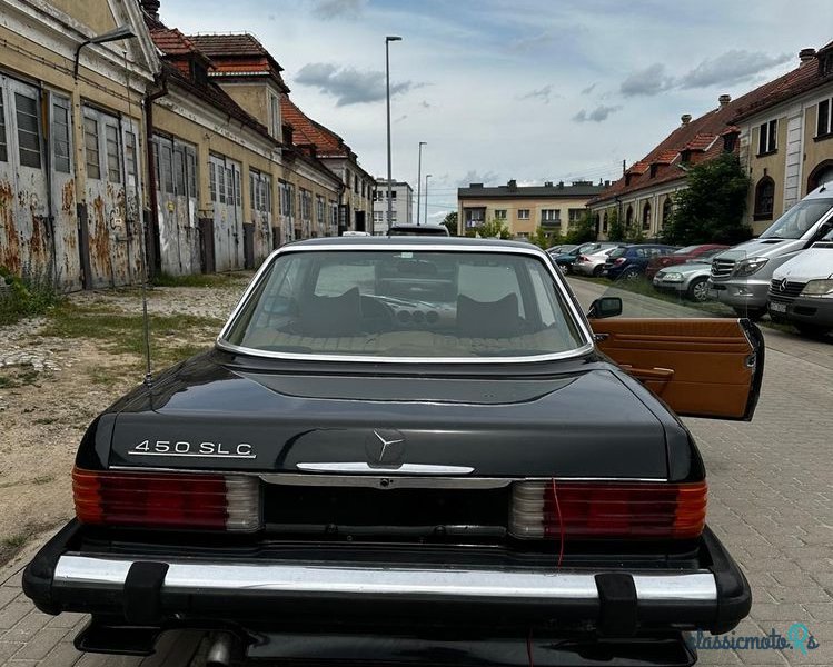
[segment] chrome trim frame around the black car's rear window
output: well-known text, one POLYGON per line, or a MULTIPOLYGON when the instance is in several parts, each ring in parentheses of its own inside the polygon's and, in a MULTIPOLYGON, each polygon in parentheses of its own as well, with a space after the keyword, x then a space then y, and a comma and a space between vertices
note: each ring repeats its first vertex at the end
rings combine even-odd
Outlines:
MULTIPOLYGON (((398 237, 401 238, 401 237, 398 237)), ((251 279, 251 282, 249 282, 248 287, 244 291, 242 296, 240 297, 240 300, 237 302, 237 306, 235 306, 235 309, 231 311, 231 315, 229 316, 228 320, 226 320, 226 323, 222 326, 222 329, 220 329, 219 335, 217 336, 215 340, 215 346, 221 350, 228 351, 228 352, 235 352, 240 355, 249 355, 252 357, 261 357, 261 358, 269 358, 269 359, 288 359, 288 360, 297 360, 297 361, 349 361, 349 362, 359 362, 359 364, 430 364, 430 365, 438 365, 438 364, 463 364, 463 365, 472 365, 472 364, 530 364, 536 361, 557 361, 559 359, 573 359, 576 357, 583 357, 584 355, 587 355, 592 352, 595 349, 595 344, 593 341, 593 332, 591 331, 589 322, 587 321, 587 318, 584 316, 584 313, 577 308, 576 301, 573 298, 572 290, 569 289, 569 286, 566 282, 565 277, 562 275, 559 270, 555 268, 553 265, 553 260, 547 256, 544 250, 541 250, 536 247, 530 248, 519 248, 515 246, 470 246, 470 245, 457 245, 457 243, 448 243, 448 245, 415 245, 415 243, 407 243, 404 241, 395 241, 389 245, 385 243, 339 243, 339 242, 328 242, 328 243, 315 243, 306 246, 303 241, 298 243, 287 243, 282 248, 279 248, 278 250, 272 251, 269 257, 266 258, 264 263, 258 269, 257 273, 255 273, 255 277, 251 279), (556 290, 559 290, 559 297, 561 300, 564 301, 564 305, 566 306, 567 310, 573 317, 573 322, 576 325, 577 329, 582 332, 584 336, 585 344, 578 348, 566 350, 563 352, 553 352, 551 355, 535 355, 535 356, 527 356, 527 357, 370 357, 370 356, 360 356, 360 355, 305 355, 305 354, 298 354, 298 352, 275 352, 275 351, 268 351, 268 350, 258 350, 255 348, 247 348, 238 345, 231 345, 230 342, 226 341, 225 338, 228 334, 228 330, 231 328, 231 325, 237 319, 237 317, 240 313, 240 310, 242 310, 244 305, 249 299, 249 295, 255 291, 255 289, 258 287, 260 280, 262 279, 264 273, 268 270, 268 268, 271 266, 271 263, 280 256, 286 255, 290 252, 315 252, 315 251, 321 251, 321 250, 340 250, 340 251, 385 251, 385 250, 394 250, 394 251, 420 251, 420 252, 496 252, 496 253, 510 253, 510 255, 526 255, 529 257, 535 257, 536 259, 541 260, 541 262, 544 265, 545 269, 549 272, 549 276, 553 278, 553 283, 555 285, 556 290)))

